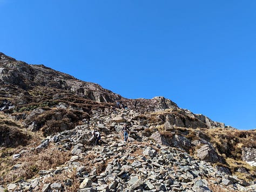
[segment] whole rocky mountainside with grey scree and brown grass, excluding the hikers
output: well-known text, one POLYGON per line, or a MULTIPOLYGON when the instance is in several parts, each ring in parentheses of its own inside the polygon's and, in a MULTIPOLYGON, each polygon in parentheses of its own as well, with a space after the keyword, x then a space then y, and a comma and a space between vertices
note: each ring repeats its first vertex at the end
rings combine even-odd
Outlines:
POLYGON ((0 86, 0 191, 256 190, 255 130, 3 53, 0 86), (97 146, 88 141, 94 129, 97 146))

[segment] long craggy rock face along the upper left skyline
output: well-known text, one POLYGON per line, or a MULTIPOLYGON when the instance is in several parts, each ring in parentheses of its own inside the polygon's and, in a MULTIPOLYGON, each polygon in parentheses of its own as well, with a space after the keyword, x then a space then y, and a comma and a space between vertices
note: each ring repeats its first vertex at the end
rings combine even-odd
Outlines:
POLYGON ((43 65, 28 65, 3 53, 0 53, 0 84, 18 86, 22 92, 36 86, 64 89, 98 102, 113 102, 121 98, 96 83, 80 81, 43 65))

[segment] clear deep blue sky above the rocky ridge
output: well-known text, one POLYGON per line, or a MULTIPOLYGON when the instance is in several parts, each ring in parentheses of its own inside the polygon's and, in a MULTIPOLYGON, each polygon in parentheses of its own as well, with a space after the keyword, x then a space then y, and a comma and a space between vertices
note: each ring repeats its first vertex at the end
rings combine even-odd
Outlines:
POLYGON ((0 0, 0 52, 256 128, 256 1, 0 0))

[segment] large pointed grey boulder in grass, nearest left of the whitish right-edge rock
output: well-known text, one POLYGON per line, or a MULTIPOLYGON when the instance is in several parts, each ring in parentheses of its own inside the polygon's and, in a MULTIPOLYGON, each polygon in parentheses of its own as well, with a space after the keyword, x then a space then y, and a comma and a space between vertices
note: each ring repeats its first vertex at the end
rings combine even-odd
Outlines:
POLYGON ((223 162, 214 148, 209 145, 203 145, 197 150, 197 157, 207 162, 223 162))

